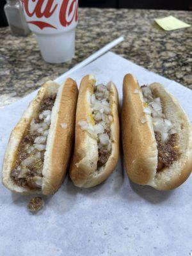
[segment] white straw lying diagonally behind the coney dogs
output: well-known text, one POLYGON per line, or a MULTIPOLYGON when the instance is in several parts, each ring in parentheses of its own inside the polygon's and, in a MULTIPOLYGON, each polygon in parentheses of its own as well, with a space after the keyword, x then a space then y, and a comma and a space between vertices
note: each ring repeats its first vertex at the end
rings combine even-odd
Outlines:
POLYGON ((70 74, 72 74, 72 72, 75 72, 77 69, 82 68, 86 65, 88 65, 89 63, 91 63, 93 60, 96 60, 97 58, 99 58, 102 54, 104 54, 105 52, 108 52, 111 48, 115 47, 115 45, 120 44, 121 42, 124 41, 124 36, 120 36, 119 38, 116 38, 114 41, 110 42, 109 44, 105 45, 104 47, 102 47, 99 51, 93 53, 91 56, 89 56, 88 58, 86 58, 85 60, 81 61, 79 64, 77 64, 75 67, 71 68, 70 70, 68 70, 67 72, 65 72, 63 75, 61 75, 60 77, 58 77, 57 79, 55 79, 54 81, 56 81, 57 83, 60 83, 60 81, 63 81, 65 77, 69 76, 70 74))

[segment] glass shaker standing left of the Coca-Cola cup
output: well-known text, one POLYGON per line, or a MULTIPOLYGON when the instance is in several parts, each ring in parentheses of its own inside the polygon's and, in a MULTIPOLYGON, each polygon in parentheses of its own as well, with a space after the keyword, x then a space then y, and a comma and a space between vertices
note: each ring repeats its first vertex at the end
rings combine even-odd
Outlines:
POLYGON ((30 33, 19 0, 6 0, 4 12, 12 35, 26 36, 30 33))

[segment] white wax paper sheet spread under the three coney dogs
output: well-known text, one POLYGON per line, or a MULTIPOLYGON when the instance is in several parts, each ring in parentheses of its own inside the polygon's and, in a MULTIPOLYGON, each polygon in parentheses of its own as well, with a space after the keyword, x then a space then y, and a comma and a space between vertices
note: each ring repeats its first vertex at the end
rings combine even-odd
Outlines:
MULTIPOLYGON (((72 74, 77 83, 86 74, 112 80, 122 100, 122 81, 132 73, 140 84, 154 81, 177 97, 192 119, 192 92, 174 81, 148 72, 112 52, 72 74)), ((65 76, 58 78, 58 82, 65 76)), ((0 111, 0 164, 15 124, 36 92, 0 111)), ((2 256, 188 256, 192 255, 191 177, 173 191, 161 192, 133 184, 118 166, 106 182, 76 188, 65 179, 47 198, 42 211, 31 214, 29 196, 13 195, 0 184, 0 255, 2 256)))

